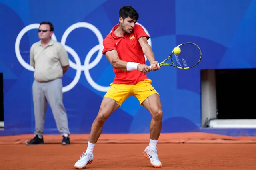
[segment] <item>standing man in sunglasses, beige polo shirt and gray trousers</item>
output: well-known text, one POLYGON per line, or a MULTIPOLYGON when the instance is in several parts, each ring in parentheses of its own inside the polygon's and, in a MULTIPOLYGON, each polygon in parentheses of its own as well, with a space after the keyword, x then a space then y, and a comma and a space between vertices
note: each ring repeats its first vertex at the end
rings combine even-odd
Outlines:
POLYGON ((40 41, 30 49, 30 65, 34 67, 33 101, 35 114, 35 136, 27 145, 44 144, 44 121, 49 103, 62 144, 70 144, 68 117, 62 102, 62 76, 66 73, 68 53, 64 46, 52 40, 54 27, 50 22, 41 22, 38 29, 40 41))

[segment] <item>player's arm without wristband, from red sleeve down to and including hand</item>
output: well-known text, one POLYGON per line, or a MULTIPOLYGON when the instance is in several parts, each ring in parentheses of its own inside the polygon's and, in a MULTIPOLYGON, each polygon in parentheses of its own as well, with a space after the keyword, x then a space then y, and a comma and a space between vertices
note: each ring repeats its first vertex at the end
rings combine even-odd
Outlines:
POLYGON ((138 42, 140 43, 143 53, 146 55, 148 61, 150 62, 152 69, 154 71, 160 69, 160 67, 158 66, 158 62, 155 60, 155 55, 152 51, 152 48, 148 44, 147 37, 140 37, 138 39, 138 42))

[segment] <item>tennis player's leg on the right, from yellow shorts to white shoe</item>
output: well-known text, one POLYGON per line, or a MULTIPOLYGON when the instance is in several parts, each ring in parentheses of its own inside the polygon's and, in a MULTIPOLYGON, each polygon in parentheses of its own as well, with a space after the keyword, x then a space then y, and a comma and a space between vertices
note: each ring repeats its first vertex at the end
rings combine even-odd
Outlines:
POLYGON ((157 154, 157 142, 162 130, 162 104, 158 92, 151 85, 151 80, 138 83, 134 88, 134 94, 152 115, 150 123, 150 142, 144 150, 144 156, 150 160, 154 167, 162 167, 157 154))

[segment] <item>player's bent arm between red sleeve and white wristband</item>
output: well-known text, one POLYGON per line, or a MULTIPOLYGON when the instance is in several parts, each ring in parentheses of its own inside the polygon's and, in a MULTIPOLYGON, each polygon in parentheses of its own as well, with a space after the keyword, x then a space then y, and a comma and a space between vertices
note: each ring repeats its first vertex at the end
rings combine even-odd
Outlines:
POLYGON ((128 62, 119 59, 118 53, 115 49, 106 52, 106 57, 114 68, 122 70, 122 71, 127 70, 127 63, 128 62))

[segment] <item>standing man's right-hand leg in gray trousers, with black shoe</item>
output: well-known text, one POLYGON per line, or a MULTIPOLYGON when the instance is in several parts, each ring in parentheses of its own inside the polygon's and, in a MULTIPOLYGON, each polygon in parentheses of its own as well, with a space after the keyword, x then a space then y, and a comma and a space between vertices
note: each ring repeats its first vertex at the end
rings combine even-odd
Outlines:
POLYGON ((70 144, 68 117, 63 104, 62 79, 46 83, 46 99, 52 109, 58 131, 62 135, 62 144, 70 144))

